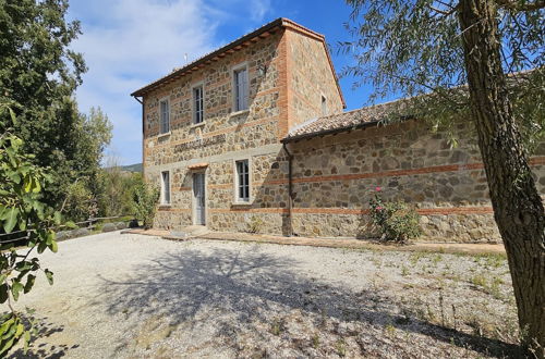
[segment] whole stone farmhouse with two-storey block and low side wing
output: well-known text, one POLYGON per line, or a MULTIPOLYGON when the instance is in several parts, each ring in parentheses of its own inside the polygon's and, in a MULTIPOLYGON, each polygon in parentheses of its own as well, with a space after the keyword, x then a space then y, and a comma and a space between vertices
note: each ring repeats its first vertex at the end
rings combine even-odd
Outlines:
MULTIPOLYGON (((380 186, 417 208, 422 239, 499 240, 471 123, 452 149, 417 119, 382 125, 388 104, 343 112, 324 36, 290 20, 132 96, 145 178, 161 188, 157 228, 365 237, 380 186)), ((532 165, 544 193, 544 146, 532 165)))

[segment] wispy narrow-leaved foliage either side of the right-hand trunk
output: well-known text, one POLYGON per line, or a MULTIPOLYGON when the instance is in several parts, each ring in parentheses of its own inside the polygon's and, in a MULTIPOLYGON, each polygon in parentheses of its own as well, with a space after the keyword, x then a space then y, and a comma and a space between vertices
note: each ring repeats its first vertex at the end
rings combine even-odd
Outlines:
MULTIPOLYGON (((346 27, 354 40, 341 42, 340 50, 355 61, 342 74, 355 78, 354 87, 372 84, 372 103, 392 94, 410 98, 386 121, 396 121, 400 112, 428 120, 435 129, 446 129, 456 146, 456 120, 471 116, 459 1, 347 2, 353 11, 346 27)), ((532 152, 545 136, 545 10, 537 5, 543 1, 496 2, 508 96, 532 152)))

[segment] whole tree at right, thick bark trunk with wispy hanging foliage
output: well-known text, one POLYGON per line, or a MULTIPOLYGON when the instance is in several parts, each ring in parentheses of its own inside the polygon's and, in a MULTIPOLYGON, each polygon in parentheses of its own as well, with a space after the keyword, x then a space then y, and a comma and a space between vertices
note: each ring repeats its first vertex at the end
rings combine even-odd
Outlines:
POLYGON ((408 97, 387 121, 427 120, 455 143, 459 121, 474 126, 522 342, 545 355, 545 215, 529 161, 545 150, 545 1, 347 2, 344 73, 374 85, 372 100, 408 97))

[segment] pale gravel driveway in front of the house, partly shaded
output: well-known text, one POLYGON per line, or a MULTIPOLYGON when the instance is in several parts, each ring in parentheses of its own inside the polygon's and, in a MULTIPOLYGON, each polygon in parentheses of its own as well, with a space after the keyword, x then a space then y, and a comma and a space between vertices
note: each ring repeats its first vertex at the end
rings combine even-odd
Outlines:
MULTIPOLYGON (((99 234, 43 256, 28 357, 504 356, 505 260, 99 234), (481 280, 480 280, 481 278, 481 280)), ((21 357, 17 351, 14 357, 21 357)))

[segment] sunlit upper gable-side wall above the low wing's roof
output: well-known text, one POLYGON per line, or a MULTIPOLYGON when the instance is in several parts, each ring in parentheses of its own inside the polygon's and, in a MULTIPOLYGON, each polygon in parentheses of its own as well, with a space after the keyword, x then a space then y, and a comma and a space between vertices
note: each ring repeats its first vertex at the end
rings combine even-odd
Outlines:
POLYGON ((322 40, 292 29, 287 30, 290 128, 310 119, 320 117, 322 96, 327 114, 342 112, 342 99, 322 40))

